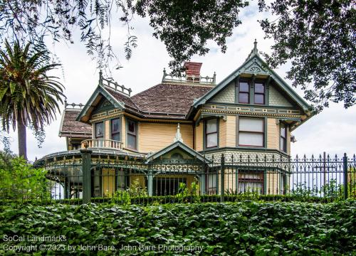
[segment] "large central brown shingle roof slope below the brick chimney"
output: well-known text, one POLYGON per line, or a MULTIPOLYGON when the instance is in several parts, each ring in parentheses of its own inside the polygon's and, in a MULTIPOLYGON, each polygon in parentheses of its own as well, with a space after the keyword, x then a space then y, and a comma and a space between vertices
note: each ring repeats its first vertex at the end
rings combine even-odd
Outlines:
POLYGON ((159 84, 131 97, 142 112, 187 114, 194 99, 211 90, 211 86, 159 84))

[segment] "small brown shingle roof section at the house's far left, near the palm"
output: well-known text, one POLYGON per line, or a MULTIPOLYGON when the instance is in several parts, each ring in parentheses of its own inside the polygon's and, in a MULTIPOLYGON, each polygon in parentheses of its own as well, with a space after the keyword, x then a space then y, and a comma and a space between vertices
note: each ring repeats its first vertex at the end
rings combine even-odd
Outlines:
POLYGON ((66 109, 63 112, 61 128, 59 130, 59 136, 63 137, 80 137, 91 138, 92 127, 90 124, 75 121, 78 117, 80 110, 66 109))

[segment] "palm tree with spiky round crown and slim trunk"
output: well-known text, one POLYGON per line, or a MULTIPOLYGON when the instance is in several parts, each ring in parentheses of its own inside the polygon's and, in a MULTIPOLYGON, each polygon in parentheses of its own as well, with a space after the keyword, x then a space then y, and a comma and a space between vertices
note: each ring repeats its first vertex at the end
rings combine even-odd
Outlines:
POLYGON ((38 132, 56 118, 58 102, 63 103, 63 85, 48 71, 60 64, 48 63, 48 51, 37 50, 31 43, 23 48, 19 41, 11 47, 5 41, 0 49, 0 119, 2 129, 10 124, 18 132, 19 156, 27 159, 26 127, 38 132))

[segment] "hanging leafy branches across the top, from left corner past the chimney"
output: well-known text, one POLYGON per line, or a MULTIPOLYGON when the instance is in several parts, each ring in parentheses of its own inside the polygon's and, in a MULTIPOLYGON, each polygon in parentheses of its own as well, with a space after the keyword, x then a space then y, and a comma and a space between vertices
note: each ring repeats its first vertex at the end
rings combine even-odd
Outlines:
MULTIPOLYGON (((248 5, 243 0, 13 0, 0 2, 0 38, 24 39, 43 45, 43 36, 55 41, 73 43, 74 28, 80 28, 81 41, 89 55, 95 56, 100 68, 109 60, 117 60, 110 43, 112 22, 127 26, 126 58, 137 46, 130 21, 135 15, 150 18, 153 36, 163 41, 174 59, 169 64, 179 68, 194 54, 209 50, 206 42, 214 40, 226 50, 226 37, 238 26, 239 10, 248 5)), ((119 65, 119 64, 117 64, 119 65)))

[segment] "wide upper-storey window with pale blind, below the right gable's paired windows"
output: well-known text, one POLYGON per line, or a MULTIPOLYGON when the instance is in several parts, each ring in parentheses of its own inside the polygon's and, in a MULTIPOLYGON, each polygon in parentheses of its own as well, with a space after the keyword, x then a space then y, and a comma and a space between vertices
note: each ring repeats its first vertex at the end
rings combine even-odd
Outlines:
POLYGON ((239 146, 263 146, 264 119, 239 117, 239 146))

